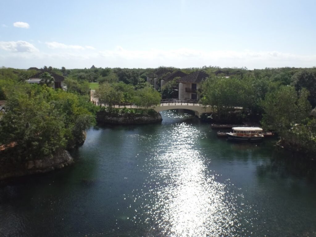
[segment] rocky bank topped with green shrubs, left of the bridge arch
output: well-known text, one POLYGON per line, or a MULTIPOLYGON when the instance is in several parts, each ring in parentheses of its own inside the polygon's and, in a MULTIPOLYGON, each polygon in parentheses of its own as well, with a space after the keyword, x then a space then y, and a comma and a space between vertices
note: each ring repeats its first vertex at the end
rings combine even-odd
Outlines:
POLYGON ((152 109, 103 109, 96 113, 96 121, 99 124, 150 124, 161 122, 162 117, 152 109))

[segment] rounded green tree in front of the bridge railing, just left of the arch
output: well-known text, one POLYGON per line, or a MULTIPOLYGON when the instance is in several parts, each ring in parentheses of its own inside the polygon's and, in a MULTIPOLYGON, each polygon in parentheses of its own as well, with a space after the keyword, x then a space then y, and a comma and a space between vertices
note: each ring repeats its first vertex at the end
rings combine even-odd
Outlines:
POLYGON ((144 87, 137 90, 137 95, 134 97, 137 106, 148 109, 150 106, 157 106, 160 104, 161 95, 152 87, 144 87))

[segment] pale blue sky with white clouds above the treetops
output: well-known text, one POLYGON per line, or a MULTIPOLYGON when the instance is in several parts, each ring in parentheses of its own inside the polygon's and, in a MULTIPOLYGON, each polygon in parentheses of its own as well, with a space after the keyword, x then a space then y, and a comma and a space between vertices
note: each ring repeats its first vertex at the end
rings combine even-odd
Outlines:
POLYGON ((313 67, 315 9, 313 0, 0 0, 0 67, 313 67))

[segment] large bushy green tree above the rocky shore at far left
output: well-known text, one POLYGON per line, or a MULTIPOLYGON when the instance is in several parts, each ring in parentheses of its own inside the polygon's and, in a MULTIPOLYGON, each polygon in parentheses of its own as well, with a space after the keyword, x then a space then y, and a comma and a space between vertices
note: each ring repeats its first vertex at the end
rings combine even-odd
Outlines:
POLYGON ((66 147, 64 118, 41 96, 14 91, 0 120, 0 143, 16 143, 15 153, 33 159, 66 147))

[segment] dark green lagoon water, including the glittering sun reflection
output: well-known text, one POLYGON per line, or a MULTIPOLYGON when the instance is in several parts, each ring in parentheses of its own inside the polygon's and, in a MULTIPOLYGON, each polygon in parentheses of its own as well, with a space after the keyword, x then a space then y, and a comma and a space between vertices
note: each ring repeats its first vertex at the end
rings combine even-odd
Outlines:
POLYGON ((73 166, 0 186, 0 236, 316 236, 312 162, 162 117, 91 128, 73 166))

